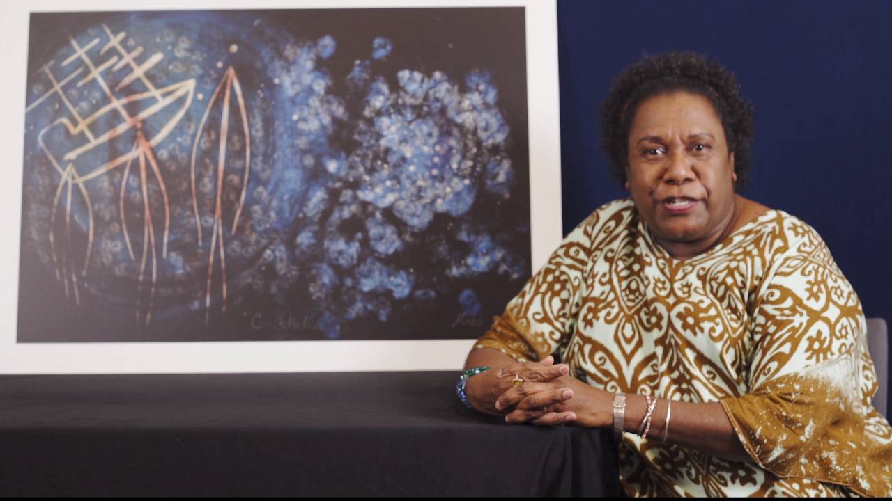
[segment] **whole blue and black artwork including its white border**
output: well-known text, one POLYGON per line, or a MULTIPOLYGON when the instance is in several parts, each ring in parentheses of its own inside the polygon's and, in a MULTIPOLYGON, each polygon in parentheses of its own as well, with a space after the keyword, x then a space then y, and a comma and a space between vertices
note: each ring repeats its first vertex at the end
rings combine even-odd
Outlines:
POLYGON ((559 242, 553 2, 119 5, 4 14, 0 374, 458 369, 559 242))

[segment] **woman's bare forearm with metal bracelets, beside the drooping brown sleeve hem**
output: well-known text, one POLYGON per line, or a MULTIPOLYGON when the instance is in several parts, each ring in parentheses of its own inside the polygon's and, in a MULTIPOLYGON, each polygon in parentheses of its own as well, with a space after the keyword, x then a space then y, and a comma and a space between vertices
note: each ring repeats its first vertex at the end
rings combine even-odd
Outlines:
MULTIPOLYGON (((663 440, 668 402, 665 398, 657 400, 657 407, 651 417, 648 439, 663 440)), ((625 431, 637 433, 646 414, 647 401, 644 396, 627 393, 625 431)), ((735 461, 749 459, 734 427, 731 426, 731 420, 725 414, 722 404, 718 402, 697 404, 673 400, 669 433, 665 441, 725 459, 735 461)))

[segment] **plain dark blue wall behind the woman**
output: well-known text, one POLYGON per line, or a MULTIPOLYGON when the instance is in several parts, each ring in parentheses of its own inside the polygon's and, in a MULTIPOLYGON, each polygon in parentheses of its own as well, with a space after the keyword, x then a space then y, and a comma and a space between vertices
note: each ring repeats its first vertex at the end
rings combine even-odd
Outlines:
POLYGON ((745 195, 814 226, 867 316, 892 323, 890 21, 880 0, 558 0, 565 234, 625 196, 597 146, 610 78, 644 54, 706 53, 756 106, 745 195))

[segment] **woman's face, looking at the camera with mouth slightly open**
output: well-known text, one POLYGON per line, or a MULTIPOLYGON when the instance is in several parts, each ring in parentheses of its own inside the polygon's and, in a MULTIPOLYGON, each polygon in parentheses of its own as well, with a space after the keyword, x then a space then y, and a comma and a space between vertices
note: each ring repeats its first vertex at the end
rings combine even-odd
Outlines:
POLYGON ((734 154, 721 119, 701 95, 679 91, 640 104, 626 175, 636 208, 667 250, 690 246, 699 253, 731 226, 734 154))

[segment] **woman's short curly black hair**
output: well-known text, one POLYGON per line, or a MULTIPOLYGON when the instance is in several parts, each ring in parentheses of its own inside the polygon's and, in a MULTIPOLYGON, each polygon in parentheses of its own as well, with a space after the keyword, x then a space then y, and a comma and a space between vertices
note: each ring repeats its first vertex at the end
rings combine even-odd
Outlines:
POLYGON ((613 164, 613 174, 625 184, 629 127, 641 103, 659 94, 677 91, 706 97, 722 120, 728 151, 734 153, 737 181, 742 192, 749 179, 753 140, 753 105, 740 95, 737 78, 721 63, 698 53, 665 53, 645 57, 617 75, 600 107, 601 147, 613 164))

